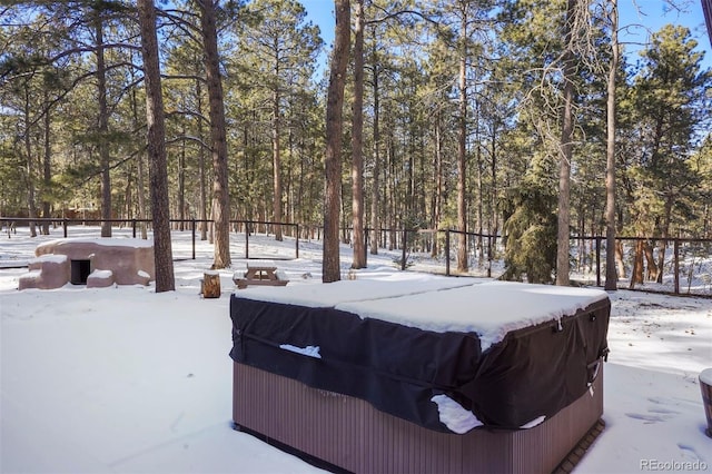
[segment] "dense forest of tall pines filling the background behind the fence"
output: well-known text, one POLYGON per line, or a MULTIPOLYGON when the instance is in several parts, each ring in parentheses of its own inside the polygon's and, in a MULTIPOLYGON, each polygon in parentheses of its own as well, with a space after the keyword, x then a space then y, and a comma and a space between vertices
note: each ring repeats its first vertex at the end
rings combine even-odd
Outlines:
POLYGON ((215 268, 230 219, 354 228, 355 268, 451 228, 558 284, 568 235, 712 238, 712 72, 680 26, 621 55, 619 1, 325 0, 324 67, 298 0, 0 0, 0 217, 211 220, 215 268))

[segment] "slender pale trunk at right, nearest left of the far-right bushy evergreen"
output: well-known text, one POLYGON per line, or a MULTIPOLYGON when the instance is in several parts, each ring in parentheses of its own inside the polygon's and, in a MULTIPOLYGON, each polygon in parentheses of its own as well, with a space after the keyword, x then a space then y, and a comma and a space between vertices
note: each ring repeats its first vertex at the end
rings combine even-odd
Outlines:
POLYGON ((611 62, 606 98, 606 168, 605 168, 605 289, 617 289, 615 270, 615 77, 619 69, 619 1, 611 0, 611 62))

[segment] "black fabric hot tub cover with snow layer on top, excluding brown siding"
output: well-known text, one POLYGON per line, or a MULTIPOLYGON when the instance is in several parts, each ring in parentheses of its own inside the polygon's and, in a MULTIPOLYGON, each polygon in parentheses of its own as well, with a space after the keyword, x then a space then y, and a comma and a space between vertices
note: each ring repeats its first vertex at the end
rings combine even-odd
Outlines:
POLYGON ((287 288, 233 295, 235 362, 441 432, 441 395, 474 414, 471 426, 551 417, 589 389, 607 352, 600 290, 467 279, 287 288))

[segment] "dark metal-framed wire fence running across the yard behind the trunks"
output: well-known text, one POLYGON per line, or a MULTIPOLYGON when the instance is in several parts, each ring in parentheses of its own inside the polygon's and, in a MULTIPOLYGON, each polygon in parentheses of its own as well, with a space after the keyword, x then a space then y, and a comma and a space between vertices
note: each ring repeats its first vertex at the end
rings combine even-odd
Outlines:
MULTIPOLYGON (((101 219, 28 219, 0 218, 0 229, 11 237, 17 226, 50 226, 61 228, 63 237, 83 236, 87 226, 106 223, 101 219)), ((141 226, 150 231, 147 219, 112 219, 112 226, 137 237, 141 226)), ((198 249, 205 255, 211 245, 201 241, 199 234, 208 234, 210 220, 171 219, 174 231, 186 233, 190 244, 174 248, 174 258, 195 259, 198 249), (200 227, 199 226, 204 226, 200 227), (206 229, 204 233, 204 228, 206 229)), ((230 220, 230 253, 235 258, 270 258, 255 244, 256 236, 275 236, 279 229, 284 241, 276 258, 299 258, 303 243, 320 241, 323 229, 316 225, 273 223, 257 220, 230 220)), ((97 233, 97 228, 92 229, 97 233)), ((342 240, 353 245, 353 230, 342 228, 342 240)), ((184 235, 184 237, 186 237, 184 235)), ((372 239, 377 240, 377 251, 393 260, 402 270, 427 271, 446 276, 476 276, 498 278, 505 269, 504 245, 501 236, 482 233, 462 233, 453 229, 393 229, 364 231, 366 260, 370 255, 372 239), (466 270, 458 260, 459 239, 466 240, 466 270)), ((277 245, 274 243, 273 245, 277 245)), ((606 240, 601 236, 571 237, 571 278, 585 285, 603 286, 605 283, 606 240)), ((619 237, 616 248, 619 288, 660 292, 675 295, 712 296, 712 239, 619 237), (641 258, 641 251, 643 253, 641 258), (642 278, 632 278, 636 274, 642 278)))

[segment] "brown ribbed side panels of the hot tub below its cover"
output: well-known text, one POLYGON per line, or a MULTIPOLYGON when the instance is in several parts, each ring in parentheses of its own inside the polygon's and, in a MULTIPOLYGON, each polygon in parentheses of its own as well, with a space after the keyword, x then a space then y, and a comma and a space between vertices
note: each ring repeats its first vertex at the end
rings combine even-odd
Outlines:
POLYGON ((234 363, 233 419, 263 438, 354 473, 552 472, 603 414, 603 372, 530 429, 439 433, 367 402, 234 363))

